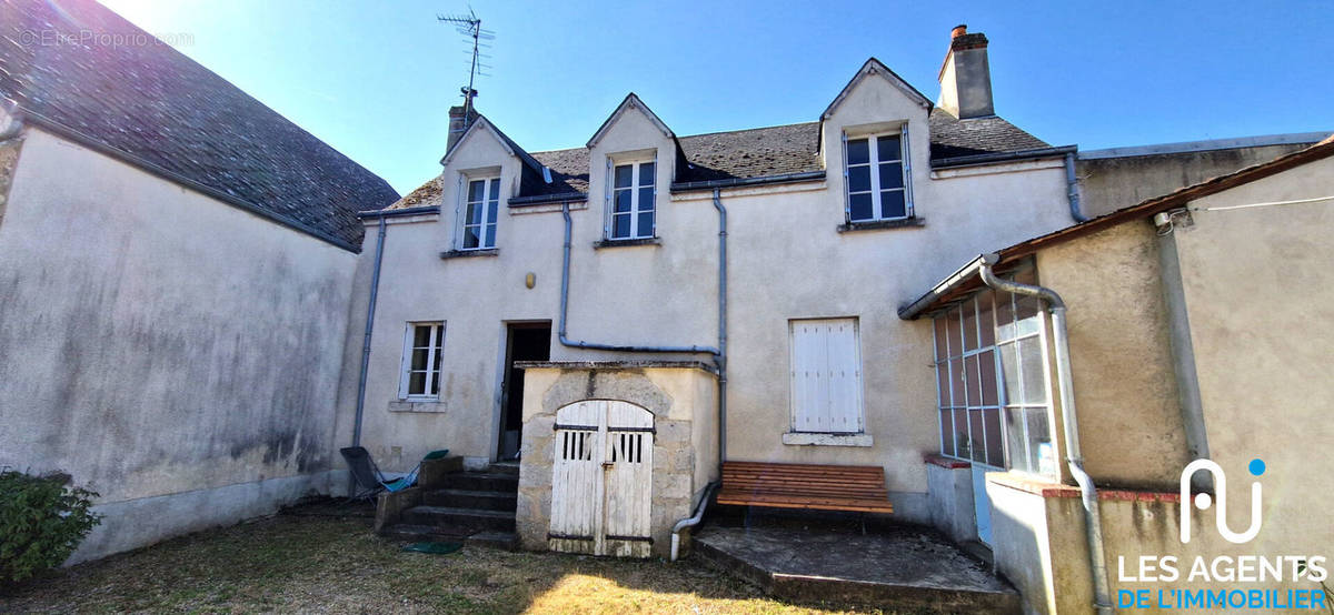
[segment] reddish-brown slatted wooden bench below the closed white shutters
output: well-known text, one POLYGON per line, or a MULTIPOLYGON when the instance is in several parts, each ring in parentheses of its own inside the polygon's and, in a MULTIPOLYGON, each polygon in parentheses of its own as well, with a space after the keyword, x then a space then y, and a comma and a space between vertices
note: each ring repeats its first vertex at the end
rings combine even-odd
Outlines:
POLYGON ((880 466, 724 462, 718 503, 894 512, 880 466))

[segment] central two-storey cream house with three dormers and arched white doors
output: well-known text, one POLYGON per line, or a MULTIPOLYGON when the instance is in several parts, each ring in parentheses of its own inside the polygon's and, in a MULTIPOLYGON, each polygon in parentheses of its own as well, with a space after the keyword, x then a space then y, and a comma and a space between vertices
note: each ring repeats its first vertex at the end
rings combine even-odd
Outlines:
MULTIPOLYGON (((363 213, 352 318, 372 292, 374 318, 364 353, 348 333, 346 370, 366 371, 343 381, 339 441, 359 433, 395 470, 519 453, 532 548, 663 554, 720 459, 880 466, 895 516, 930 522, 931 327, 894 308, 978 246, 1074 224, 1075 148, 995 114, 987 39, 964 27, 936 102, 871 59, 782 126, 676 134, 628 95, 584 146, 526 152, 455 113, 440 176, 363 213), (608 431, 652 446, 608 479, 638 491, 603 494, 635 519, 604 542, 562 530, 603 514, 567 510, 600 487, 563 463, 608 431)), ((1005 467, 988 453, 979 469, 1005 467)))

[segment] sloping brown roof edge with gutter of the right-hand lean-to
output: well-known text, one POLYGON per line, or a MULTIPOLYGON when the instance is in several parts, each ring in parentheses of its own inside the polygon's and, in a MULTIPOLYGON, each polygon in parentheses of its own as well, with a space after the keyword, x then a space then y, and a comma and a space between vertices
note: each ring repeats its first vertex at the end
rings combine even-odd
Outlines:
MULTIPOLYGON (((1279 156, 1267 162, 1246 166, 1233 173, 1189 185, 1159 197, 1147 198, 1135 205, 1121 208, 1115 212, 1098 216, 1097 218, 1091 218, 1085 222, 1021 241, 998 250, 995 254, 991 254, 991 257, 998 268, 1013 266, 1021 262, 1022 258, 1045 248, 1061 245, 1122 222, 1143 220, 1161 212, 1183 208, 1191 201, 1197 201, 1210 194, 1218 194, 1219 192, 1263 180, 1265 177, 1331 156, 1334 156, 1334 136, 1326 137, 1315 145, 1279 156)), ((983 256, 979 256, 972 262, 963 265, 916 300, 900 306, 899 315, 902 318, 916 318, 931 310, 948 305, 952 301, 962 300, 974 290, 982 288, 982 281, 976 276, 976 264, 980 262, 983 256)))

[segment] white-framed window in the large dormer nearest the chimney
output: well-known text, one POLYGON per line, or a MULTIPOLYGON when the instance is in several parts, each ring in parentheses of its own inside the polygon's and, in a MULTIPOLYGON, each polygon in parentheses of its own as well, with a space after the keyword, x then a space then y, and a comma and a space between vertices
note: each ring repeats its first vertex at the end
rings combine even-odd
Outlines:
POLYGON ((843 216, 847 222, 915 216, 910 153, 907 122, 895 130, 843 133, 843 216))

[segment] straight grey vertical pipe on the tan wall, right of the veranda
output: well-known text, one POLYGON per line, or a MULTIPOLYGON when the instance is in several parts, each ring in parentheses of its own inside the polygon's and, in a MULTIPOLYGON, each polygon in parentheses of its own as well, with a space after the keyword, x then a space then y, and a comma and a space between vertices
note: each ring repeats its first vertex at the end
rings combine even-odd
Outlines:
MULTIPOLYGON (((1190 339, 1190 315, 1186 313, 1186 289, 1182 288, 1181 258, 1177 253, 1177 228, 1194 224, 1190 212, 1177 209, 1154 217, 1158 226, 1158 270, 1167 308, 1167 334, 1173 371, 1177 374, 1177 398, 1181 402, 1182 426, 1186 429, 1187 459, 1209 459, 1209 433, 1205 431, 1205 403, 1195 371, 1195 346, 1190 339)), ((1191 485, 1197 491, 1213 491, 1213 473, 1195 473, 1191 485)))

